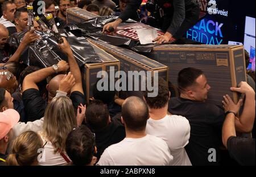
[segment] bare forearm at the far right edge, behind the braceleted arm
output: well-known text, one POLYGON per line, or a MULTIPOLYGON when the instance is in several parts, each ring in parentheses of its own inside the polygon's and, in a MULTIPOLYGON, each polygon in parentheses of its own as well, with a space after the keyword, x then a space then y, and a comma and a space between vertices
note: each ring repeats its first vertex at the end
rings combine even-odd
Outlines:
POLYGON ((255 119, 255 93, 249 92, 245 97, 245 105, 239 119, 236 119, 236 128, 240 132, 250 133, 255 119))

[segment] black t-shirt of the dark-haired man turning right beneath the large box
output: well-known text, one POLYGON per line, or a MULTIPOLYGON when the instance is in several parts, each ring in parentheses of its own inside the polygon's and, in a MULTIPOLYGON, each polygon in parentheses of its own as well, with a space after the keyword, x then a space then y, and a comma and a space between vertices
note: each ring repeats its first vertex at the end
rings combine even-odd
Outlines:
POLYGON ((189 121, 191 136, 185 149, 192 165, 214 165, 208 161, 208 150, 218 151, 221 146, 224 110, 214 104, 175 97, 170 99, 168 111, 189 121))

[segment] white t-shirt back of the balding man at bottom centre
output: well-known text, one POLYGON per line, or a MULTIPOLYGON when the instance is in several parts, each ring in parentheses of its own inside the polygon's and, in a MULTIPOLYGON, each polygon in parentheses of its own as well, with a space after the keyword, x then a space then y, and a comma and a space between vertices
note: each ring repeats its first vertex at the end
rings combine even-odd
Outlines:
POLYGON ((173 157, 166 142, 147 134, 142 138, 125 138, 109 146, 101 155, 99 165, 166 166, 173 157))

